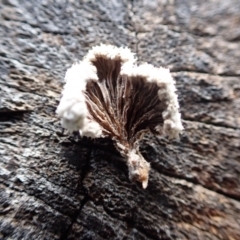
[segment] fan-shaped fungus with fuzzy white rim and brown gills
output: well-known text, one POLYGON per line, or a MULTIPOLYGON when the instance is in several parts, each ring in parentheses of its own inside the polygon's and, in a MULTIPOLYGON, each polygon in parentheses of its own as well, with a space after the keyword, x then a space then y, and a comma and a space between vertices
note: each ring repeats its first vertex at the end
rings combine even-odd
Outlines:
POLYGON ((139 152, 151 132, 177 138, 183 130, 168 69, 137 66, 128 48, 100 45, 68 69, 57 108, 62 126, 81 135, 110 137, 126 158, 129 178, 147 187, 150 164, 139 152))

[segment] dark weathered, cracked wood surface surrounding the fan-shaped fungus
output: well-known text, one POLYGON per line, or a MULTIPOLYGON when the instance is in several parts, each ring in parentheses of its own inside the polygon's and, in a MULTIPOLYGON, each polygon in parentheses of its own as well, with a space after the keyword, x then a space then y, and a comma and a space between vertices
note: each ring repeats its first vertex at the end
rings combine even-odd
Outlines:
POLYGON ((238 0, 0 1, 1 239, 240 239, 238 0), (101 42, 170 68, 184 133, 144 137, 148 188, 108 139, 63 131, 66 70, 101 42))

